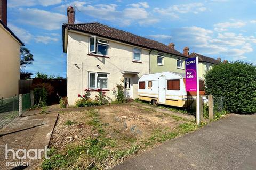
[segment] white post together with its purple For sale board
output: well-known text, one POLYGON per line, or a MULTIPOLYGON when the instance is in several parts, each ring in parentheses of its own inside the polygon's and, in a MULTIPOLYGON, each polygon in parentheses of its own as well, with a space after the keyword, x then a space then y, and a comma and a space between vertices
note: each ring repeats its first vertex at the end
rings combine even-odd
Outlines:
POLYGON ((186 91, 196 91, 196 123, 200 123, 198 57, 186 60, 186 91))

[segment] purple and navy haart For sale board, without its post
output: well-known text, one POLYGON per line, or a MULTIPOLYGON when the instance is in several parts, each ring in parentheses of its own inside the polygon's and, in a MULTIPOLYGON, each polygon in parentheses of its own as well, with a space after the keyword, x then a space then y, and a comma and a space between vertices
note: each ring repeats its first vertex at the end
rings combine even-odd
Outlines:
POLYGON ((189 58, 186 63, 186 91, 197 90, 196 58, 189 58))

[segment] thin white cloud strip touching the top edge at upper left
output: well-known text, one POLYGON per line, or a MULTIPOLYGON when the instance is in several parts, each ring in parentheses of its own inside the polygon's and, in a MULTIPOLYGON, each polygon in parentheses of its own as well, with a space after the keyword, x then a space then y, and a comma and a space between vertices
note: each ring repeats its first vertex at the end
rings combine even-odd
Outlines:
POLYGON ((35 5, 42 5, 42 6, 50 6, 50 5, 56 5, 60 4, 61 0, 9 0, 8 1, 8 7, 29 7, 29 6, 35 6, 35 5))

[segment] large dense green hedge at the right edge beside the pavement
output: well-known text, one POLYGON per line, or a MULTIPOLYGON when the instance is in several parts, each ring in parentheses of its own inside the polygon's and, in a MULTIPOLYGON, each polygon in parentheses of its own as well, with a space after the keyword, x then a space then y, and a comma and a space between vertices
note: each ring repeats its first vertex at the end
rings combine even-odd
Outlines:
POLYGON ((225 97, 224 108, 233 113, 256 112, 256 66, 242 61, 221 63, 205 75, 206 94, 225 97))

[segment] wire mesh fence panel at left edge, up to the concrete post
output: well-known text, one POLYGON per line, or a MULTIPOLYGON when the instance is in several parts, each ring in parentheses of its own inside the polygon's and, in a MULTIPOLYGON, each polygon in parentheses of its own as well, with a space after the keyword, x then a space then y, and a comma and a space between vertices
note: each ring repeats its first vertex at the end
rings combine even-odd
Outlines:
POLYGON ((0 129, 19 116, 19 96, 0 99, 0 129))

